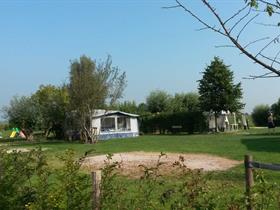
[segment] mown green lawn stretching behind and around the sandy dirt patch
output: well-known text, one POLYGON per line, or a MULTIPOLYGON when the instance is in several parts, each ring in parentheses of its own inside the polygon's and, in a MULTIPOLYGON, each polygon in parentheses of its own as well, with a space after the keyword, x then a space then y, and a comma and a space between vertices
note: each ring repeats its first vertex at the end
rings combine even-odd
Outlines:
MULTIPOLYGON (((107 154, 130 151, 176 152, 176 153, 207 153, 243 160, 245 154, 253 155, 255 160, 280 163, 280 128, 274 134, 268 130, 250 129, 236 133, 203 134, 203 135, 144 135, 133 139, 115 139, 100 141, 96 145, 69 143, 63 141, 25 142, 11 141, 3 143, 10 148, 35 148, 41 146, 50 164, 59 166, 57 156, 66 149, 73 149, 77 156, 93 149, 94 154, 107 154)), ((280 177, 278 173, 269 172, 270 176, 280 177)), ((280 174, 280 173, 279 173, 280 174)), ((217 172, 220 178, 243 181, 243 165, 226 172, 217 172)))

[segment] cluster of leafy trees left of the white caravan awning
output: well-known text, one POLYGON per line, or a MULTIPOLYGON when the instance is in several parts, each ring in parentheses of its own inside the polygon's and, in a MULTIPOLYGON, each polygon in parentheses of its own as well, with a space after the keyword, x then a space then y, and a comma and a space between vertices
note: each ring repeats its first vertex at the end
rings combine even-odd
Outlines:
POLYGON ((100 63, 81 56, 71 61, 69 75, 67 84, 42 85, 31 96, 14 97, 3 109, 10 126, 20 127, 28 138, 34 129, 55 138, 72 135, 75 130, 85 142, 93 141, 92 112, 122 97, 125 73, 112 66, 110 56, 100 63))

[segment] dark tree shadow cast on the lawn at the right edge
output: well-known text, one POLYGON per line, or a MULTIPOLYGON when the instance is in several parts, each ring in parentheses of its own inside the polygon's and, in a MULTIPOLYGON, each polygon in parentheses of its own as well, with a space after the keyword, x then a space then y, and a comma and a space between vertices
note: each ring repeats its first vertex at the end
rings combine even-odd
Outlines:
POLYGON ((280 153, 280 137, 266 135, 263 138, 241 139, 249 151, 280 153))

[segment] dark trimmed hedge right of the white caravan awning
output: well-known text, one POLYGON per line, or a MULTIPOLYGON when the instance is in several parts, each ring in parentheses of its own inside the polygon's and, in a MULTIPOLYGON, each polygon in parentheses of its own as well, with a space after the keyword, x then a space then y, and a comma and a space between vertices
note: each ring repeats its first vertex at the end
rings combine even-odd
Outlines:
POLYGON ((144 116, 140 119, 140 130, 144 133, 160 132, 164 134, 176 131, 194 133, 204 131, 205 128, 205 116, 199 111, 161 113, 144 116), (175 130, 173 126, 182 128, 175 130))

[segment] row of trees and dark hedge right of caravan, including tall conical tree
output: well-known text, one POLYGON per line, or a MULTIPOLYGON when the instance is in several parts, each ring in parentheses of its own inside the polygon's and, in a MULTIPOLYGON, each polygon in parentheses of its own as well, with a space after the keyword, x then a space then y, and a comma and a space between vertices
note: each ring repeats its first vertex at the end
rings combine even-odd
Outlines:
POLYGON ((172 132, 172 125, 181 125, 189 133, 201 131, 206 128, 203 112, 213 112, 217 124, 222 110, 237 112, 243 108, 241 83, 234 84, 233 72, 218 57, 205 68, 198 83, 198 93, 170 95, 156 90, 147 96, 145 103, 125 101, 116 108, 140 114, 143 131, 160 133, 172 132))

